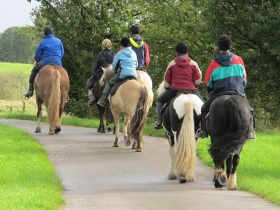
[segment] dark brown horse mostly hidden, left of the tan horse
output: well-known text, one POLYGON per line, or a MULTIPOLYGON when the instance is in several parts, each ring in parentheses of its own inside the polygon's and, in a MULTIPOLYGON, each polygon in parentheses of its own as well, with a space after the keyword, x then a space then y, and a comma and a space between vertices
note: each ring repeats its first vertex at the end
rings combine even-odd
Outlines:
MULTIPOLYGON (((110 80, 111 78, 113 78, 113 76, 115 76, 115 71, 111 70, 112 65, 109 65, 102 74, 102 77, 100 78, 99 82, 96 83, 92 89, 92 94, 97 99, 97 101, 102 95, 102 91, 104 90, 106 81, 110 80)), ((109 108, 109 103, 106 103, 105 106, 100 106, 99 104, 97 104, 97 109, 99 112, 99 127, 97 129, 97 132, 111 132, 110 123, 113 123, 113 116, 109 108), (106 116, 106 129, 104 125, 104 116, 106 116)))

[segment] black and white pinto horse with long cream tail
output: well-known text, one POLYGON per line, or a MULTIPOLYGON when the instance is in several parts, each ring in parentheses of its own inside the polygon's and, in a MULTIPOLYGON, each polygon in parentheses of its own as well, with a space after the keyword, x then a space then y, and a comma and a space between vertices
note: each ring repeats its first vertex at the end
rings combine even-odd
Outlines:
MULTIPOLYGON (((162 93, 162 86, 158 94, 162 93)), ((180 183, 195 181, 196 140, 200 127, 202 100, 195 94, 179 94, 163 113, 163 126, 169 141, 168 179, 180 183)))

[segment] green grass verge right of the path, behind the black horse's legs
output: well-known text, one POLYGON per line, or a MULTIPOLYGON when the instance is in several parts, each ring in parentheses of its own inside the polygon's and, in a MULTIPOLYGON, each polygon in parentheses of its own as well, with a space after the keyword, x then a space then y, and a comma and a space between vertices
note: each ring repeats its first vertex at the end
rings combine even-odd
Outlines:
MULTIPOLYGON (((208 153, 210 140, 200 140, 198 157, 213 166, 208 153)), ((247 141, 237 167, 239 190, 246 190, 280 205, 280 132, 258 133, 258 139, 247 141)))

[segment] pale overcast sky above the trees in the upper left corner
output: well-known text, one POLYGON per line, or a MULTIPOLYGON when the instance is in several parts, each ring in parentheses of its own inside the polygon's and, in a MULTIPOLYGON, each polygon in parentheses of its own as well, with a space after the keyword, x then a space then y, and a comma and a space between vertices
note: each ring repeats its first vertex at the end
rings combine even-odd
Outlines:
POLYGON ((36 6, 35 0, 0 0, 0 33, 8 27, 33 25, 30 13, 36 6))

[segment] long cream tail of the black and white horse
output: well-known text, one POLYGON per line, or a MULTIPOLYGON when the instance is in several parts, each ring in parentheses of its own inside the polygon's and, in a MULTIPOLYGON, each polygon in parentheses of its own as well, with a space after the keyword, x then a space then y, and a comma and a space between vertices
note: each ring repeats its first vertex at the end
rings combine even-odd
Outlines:
POLYGON ((196 143, 195 123, 193 118, 193 102, 186 102, 185 116, 178 137, 178 144, 174 153, 174 166, 177 173, 187 172, 187 179, 194 179, 196 143))

